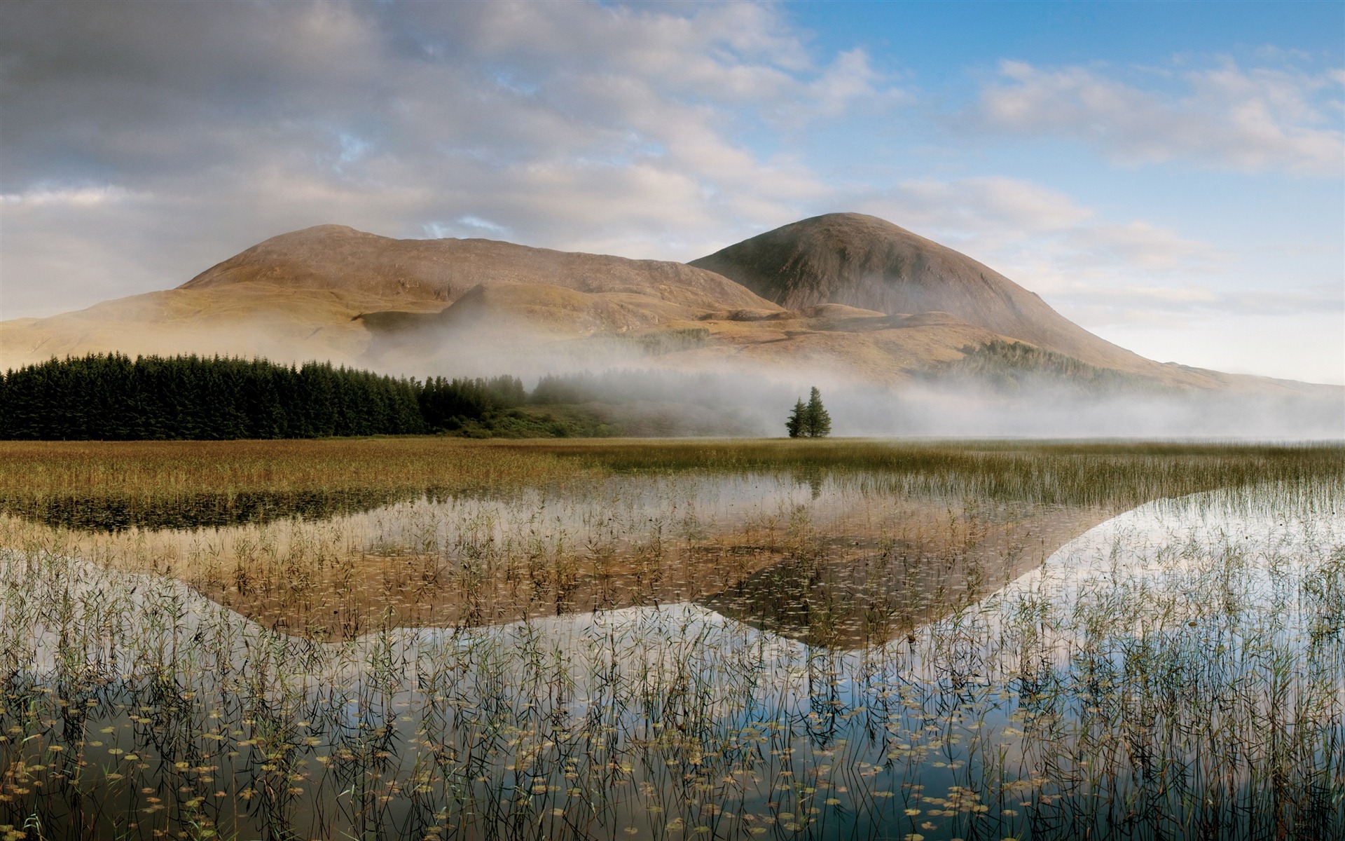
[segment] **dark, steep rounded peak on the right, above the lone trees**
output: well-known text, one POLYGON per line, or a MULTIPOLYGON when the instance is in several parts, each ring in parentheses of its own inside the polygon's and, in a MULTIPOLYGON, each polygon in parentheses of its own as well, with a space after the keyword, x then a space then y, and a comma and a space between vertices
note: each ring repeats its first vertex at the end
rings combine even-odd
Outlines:
POLYGON ((1134 373, 1158 367, 1069 322, 994 269, 877 217, 803 219, 690 265, 790 309, 833 303, 889 315, 943 311, 1091 365, 1134 373))

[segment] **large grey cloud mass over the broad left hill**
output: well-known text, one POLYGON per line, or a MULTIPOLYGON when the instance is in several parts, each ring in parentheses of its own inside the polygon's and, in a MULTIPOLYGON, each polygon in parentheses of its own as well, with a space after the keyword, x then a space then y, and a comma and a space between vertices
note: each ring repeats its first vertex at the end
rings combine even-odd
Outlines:
POLYGON ((13 3, 5 23, 7 316, 323 222, 690 258, 830 192, 745 136, 901 98, 757 4, 13 3))

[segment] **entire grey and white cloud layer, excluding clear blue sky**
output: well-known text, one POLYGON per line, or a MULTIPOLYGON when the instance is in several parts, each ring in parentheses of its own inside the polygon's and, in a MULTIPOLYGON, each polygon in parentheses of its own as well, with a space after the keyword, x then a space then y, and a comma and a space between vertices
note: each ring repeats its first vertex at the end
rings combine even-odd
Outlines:
MULTIPOLYGON (((833 210, 962 248, 1091 324, 1262 300, 1220 285, 1227 246, 968 171, 931 116, 951 106, 898 82, 900 57, 819 48, 773 4, 16 0, 0 55, 0 318, 176 285, 323 222, 687 260, 833 210)), ((951 110, 968 147, 1338 180, 1342 82, 1006 59, 951 110)))

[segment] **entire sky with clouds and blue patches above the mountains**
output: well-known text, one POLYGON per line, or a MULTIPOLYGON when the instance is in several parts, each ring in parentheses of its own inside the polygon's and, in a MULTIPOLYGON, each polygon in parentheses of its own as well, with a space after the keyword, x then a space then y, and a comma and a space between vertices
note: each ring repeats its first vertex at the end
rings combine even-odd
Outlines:
POLYGON ((693 260, 831 211, 1345 382, 1345 3, 0 4, 0 318, 342 223, 693 260))

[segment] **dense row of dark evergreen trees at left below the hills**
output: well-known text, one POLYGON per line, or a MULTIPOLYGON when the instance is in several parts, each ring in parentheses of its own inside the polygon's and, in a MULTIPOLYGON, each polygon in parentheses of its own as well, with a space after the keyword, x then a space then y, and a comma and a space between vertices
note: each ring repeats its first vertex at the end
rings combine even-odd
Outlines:
POLYGON ((0 377, 0 439, 410 435, 457 428, 525 398, 515 377, 422 383, 325 362, 90 354, 0 377))

